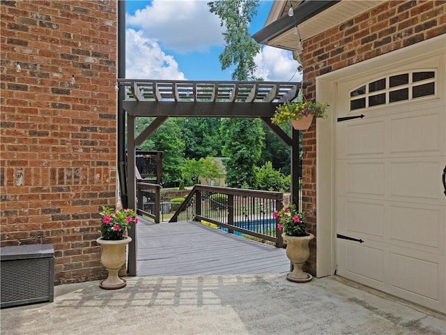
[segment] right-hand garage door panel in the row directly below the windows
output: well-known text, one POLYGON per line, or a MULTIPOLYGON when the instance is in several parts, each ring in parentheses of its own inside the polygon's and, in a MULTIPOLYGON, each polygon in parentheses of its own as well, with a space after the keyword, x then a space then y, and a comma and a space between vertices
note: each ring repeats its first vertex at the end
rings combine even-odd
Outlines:
POLYGON ((398 117, 390 121, 390 154, 440 154, 440 114, 398 117))

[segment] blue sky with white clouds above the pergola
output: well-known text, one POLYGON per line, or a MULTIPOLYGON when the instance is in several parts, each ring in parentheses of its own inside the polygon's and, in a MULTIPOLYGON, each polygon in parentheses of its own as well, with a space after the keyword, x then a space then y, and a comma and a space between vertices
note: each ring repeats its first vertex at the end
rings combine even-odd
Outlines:
MULTIPOLYGON (((231 80, 218 59, 224 48, 220 18, 203 0, 125 0, 126 75, 128 79, 231 80)), ((272 1, 259 1, 249 33, 266 22, 272 1)), ((255 58, 257 77, 299 81, 291 52, 262 47, 255 58)))

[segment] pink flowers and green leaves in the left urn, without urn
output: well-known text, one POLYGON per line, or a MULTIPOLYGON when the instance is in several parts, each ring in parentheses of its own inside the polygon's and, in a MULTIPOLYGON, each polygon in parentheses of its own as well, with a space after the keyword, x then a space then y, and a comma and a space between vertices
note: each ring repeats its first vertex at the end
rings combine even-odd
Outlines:
POLYGON ((115 211, 109 207, 102 206, 100 212, 102 225, 99 233, 102 239, 114 241, 123 239, 123 234, 130 229, 130 223, 137 224, 137 214, 132 209, 122 209, 115 211))

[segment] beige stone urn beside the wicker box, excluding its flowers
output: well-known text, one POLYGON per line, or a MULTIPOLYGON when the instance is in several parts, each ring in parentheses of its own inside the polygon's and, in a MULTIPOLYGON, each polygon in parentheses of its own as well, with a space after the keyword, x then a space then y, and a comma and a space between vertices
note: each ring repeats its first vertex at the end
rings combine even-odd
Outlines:
POLYGON ((105 290, 124 288, 125 285, 127 285, 127 281, 123 278, 119 278, 118 271, 125 263, 125 247, 132 241, 132 238, 125 236, 124 239, 106 240, 100 237, 96 239, 96 241, 102 248, 100 262, 109 273, 109 276, 106 279, 100 281, 100 288, 104 288, 105 290))

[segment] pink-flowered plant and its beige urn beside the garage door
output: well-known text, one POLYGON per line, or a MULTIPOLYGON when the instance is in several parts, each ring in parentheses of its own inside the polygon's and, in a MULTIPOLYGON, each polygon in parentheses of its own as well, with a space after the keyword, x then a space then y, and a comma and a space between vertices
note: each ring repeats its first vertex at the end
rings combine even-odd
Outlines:
POLYGON ((309 241, 314 235, 305 231, 307 227, 305 212, 297 211, 295 204, 286 205, 274 212, 277 228, 282 230, 282 238, 286 241, 286 256, 293 264, 293 271, 286 275, 289 281, 306 283, 313 276, 302 271, 309 258, 309 241))

